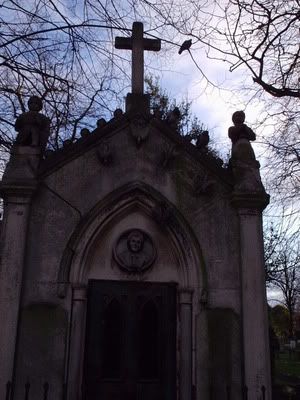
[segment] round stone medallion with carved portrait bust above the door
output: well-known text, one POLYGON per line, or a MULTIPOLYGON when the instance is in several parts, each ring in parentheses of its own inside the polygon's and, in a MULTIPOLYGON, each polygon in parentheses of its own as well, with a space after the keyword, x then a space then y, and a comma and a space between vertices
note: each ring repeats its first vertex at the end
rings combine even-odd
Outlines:
POLYGON ((155 261, 156 249, 149 235, 140 229, 130 229, 117 240, 113 255, 124 271, 141 273, 155 261))

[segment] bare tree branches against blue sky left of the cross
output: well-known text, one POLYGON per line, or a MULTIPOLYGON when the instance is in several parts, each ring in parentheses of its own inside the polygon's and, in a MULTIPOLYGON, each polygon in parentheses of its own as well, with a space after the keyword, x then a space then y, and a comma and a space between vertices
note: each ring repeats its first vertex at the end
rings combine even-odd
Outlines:
POLYGON ((54 148, 74 139, 83 121, 95 123, 116 107, 128 85, 127 59, 113 49, 115 29, 130 33, 121 8, 89 0, 12 0, 0 10, 1 154, 32 94, 44 99, 54 148))

